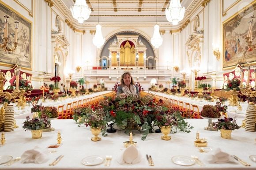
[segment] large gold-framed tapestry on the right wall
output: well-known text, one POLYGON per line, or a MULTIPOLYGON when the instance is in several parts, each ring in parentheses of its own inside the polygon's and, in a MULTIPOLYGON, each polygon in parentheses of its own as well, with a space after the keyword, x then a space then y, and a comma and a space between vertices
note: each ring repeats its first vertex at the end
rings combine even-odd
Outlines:
MULTIPOLYGON (((256 63, 256 49, 248 48, 245 37, 249 21, 256 16, 256 1, 222 23, 223 28, 223 70, 229 70, 243 63, 256 63)), ((256 41, 256 21, 252 26, 252 42, 256 41)))

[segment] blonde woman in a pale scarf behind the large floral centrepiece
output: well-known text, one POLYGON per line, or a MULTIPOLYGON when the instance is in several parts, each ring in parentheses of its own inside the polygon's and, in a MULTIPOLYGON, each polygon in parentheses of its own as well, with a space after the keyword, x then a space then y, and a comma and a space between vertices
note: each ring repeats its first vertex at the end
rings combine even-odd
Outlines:
POLYGON ((139 95, 139 88, 135 85, 132 75, 129 71, 124 72, 120 80, 121 84, 117 88, 117 96, 124 95, 139 95))

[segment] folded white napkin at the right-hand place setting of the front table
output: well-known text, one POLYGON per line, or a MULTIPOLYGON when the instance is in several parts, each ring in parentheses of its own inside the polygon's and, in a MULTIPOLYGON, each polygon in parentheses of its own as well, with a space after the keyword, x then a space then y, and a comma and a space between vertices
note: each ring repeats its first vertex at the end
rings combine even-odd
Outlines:
POLYGON ((236 162, 233 156, 229 155, 226 152, 222 152, 220 148, 217 148, 213 151, 212 155, 207 155, 205 158, 209 163, 228 163, 236 162))

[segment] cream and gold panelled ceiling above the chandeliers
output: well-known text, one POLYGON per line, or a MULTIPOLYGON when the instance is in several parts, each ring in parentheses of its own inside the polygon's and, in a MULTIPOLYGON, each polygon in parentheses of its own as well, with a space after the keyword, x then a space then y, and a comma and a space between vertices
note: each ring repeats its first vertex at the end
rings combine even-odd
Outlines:
MULTIPOLYGON (((156 23, 156 13, 159 25, 172 26, 165 16, 165 9, 169 7, 170 0, 86 0, 92 12, 87 21, 79 24, 69 11, 75 0, 55 0, 55 5, 73 25, 78 27, 92 26, 99 22, 109 25, 113 23, 156 23), (99 2, 99 3, 98 3, 99 2), (157 3, 156 3, 157 2, 157 3), (157 9, 157 12, 156 12, 157 9)), ((186 8, 185 18, 194 11, 203 0, 181 0, 181 6, 186 8)), ((184 22, 181 21, 180 24, 184 22)), ((178 26, 176 26, 178 27, 178 26)))

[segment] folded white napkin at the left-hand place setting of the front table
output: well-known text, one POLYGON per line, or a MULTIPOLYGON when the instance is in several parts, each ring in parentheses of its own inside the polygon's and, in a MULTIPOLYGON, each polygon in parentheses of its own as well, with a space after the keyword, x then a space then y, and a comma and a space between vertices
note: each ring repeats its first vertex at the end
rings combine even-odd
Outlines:
POLYGON ((36 146, 34 149, 25 151, 21 155, 22 163, 45 163, 49 160, 48 152, 46 149, 39 148, 36 146))

